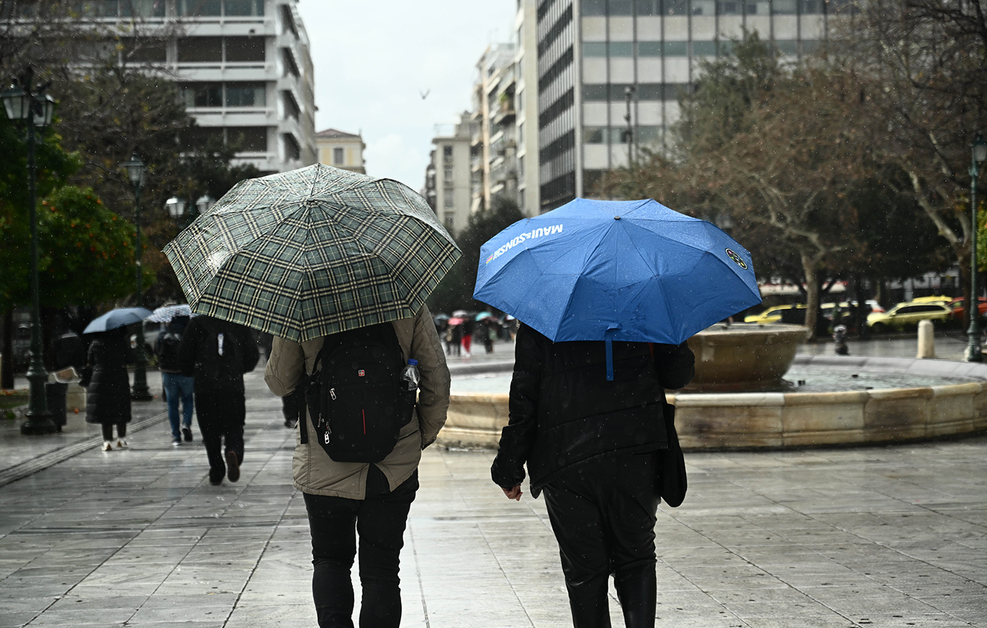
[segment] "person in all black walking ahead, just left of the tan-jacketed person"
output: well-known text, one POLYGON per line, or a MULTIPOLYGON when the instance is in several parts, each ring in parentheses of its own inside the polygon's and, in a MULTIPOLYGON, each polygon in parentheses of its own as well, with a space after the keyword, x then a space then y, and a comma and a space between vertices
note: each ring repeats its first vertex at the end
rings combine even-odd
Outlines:
POLYGON ((194 378, 195 415, 213 486, 222 484, 223 476, 240 479, 247 418, 243 374, 260 359, 250 330, 235 322, 195 316, 182 336, 179 365, 182 375, 194 378))

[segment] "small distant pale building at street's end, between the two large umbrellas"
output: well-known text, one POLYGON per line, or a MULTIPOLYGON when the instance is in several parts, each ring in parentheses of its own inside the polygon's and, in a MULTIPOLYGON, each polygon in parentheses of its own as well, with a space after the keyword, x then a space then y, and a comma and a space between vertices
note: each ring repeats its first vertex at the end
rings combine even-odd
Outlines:
POLYGON ((451 133, 432 139, 435 146, 425 169, 424 197, 446 230, 455 235, 466 227, 473 205, 471 146, 476 122, 464 111, 451 133))

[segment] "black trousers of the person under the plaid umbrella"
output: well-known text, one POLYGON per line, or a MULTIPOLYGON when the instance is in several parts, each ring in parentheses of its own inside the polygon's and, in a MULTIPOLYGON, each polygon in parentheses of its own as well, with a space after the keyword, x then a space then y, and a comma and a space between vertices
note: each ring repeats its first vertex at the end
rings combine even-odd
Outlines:
POLYGON ((357 534, 363 589, 360 628, 398 628, 401 624, 398 569, 416 491, 418 471, 390 491, 384 473, 371 464, 364 500, 304 494, 315 566, 312 597, 320 628, 352 628, 349 569, 356 555, 357 534))

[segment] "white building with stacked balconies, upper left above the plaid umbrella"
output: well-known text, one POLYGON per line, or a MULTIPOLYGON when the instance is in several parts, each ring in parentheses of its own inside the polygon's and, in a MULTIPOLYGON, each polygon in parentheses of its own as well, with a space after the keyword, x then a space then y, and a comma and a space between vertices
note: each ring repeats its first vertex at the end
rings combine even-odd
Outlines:
POLYGON ((197 128, 185 150, 236 149, 277 173, 316 162, 314 72, 298 0, 80 0, 80 20, 141 37, 120 53, 178 83, 197 128))

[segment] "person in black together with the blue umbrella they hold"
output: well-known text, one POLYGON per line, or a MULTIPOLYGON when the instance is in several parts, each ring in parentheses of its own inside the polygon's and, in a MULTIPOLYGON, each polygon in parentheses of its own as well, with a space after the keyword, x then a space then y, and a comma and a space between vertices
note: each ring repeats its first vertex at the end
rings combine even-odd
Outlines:
POLYGON ((760 303, 750 256, 653 200, 588 201, 511 225, 481 248, 474 298, 521 321, 493 482, 545 495, 576 628, 653 628, 654 523, 684 461, 666 388, 695 374, 691 335, 760 303))

